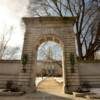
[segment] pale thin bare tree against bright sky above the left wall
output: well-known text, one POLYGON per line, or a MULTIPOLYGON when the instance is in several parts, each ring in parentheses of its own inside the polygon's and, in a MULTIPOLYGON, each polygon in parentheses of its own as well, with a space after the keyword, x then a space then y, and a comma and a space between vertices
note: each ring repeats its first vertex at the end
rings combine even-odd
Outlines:
POLYGON ((10 27, 8 30, 5 29, 3 34, 0 34, 0 59, 15 59, 20 51, 19 47, 8 46, 12 32, 13 27, 10 27))

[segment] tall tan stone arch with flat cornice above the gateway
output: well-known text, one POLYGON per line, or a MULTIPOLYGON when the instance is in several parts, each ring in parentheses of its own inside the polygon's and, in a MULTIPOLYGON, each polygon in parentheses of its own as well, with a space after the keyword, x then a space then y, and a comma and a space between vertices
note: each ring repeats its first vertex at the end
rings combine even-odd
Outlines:
POLYGON ((36 90, 36 59, 37 49, 41 43, 45 41, 54 41, 61 45, 63 49, 63 78, 64 92, 76 89, 79 85, 79 72, 77 61, 74 66, 75 72, 71 72, 70 53, 75 52, 75 34, 73 32, 73 17, 38 17, 23 18, 26 32, 23 45, 23 54, 28 55, 28 63, 26 65, 26 73, 20 72, 20 84, 36 90))

